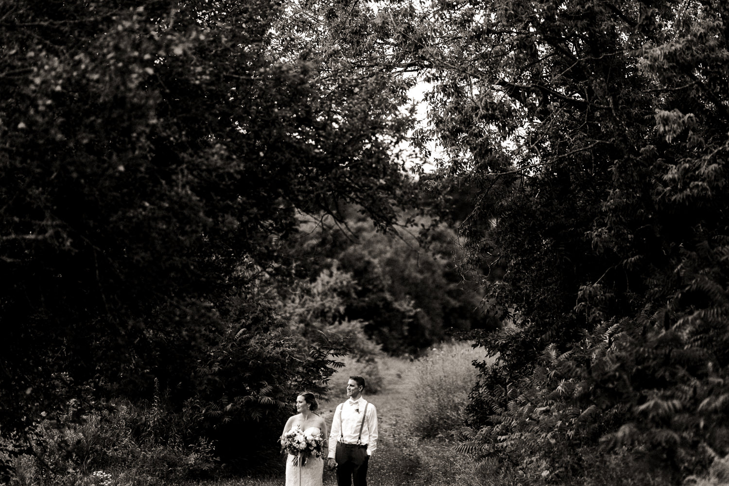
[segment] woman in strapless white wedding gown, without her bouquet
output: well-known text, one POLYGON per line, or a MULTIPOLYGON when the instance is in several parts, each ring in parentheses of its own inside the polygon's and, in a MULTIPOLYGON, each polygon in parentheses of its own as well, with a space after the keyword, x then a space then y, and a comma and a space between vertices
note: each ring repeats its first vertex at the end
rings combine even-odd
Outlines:
POLYGON ((304 466, 295 465, 295 455, 289 454, 286 458, 286 486, 321 486, 323 481, 322 477, 324 474, 324 459, 327 457, 327 424, 324 423, 324 419, 314 413, 319 408, 319 404, 316 403, 316 398, 313 393, 308 391, 301 393, 296 397, 296 411, 299 412, 297 415, 292 415, 289 420, 286 420, 286 426, 284 426, 284 434, 290 431, 292 428, 298 427, 304 433, 316 432, 321 433, 324 437, 324 450, 322 451, 321 458, 311 457, 308 458, 304 466))

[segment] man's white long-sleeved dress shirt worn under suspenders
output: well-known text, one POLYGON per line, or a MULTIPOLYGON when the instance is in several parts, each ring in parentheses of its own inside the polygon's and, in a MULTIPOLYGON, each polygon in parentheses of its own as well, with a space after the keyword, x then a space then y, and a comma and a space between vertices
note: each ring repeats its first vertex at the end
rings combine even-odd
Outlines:
POLYGON ((362 396, 359 399, 348 399, 343 404, 338 404, 334 411, 332 430, 329 434, 329 457, 334 457, 337 442, 340 442, 342 438, 345 444, 356 444, 360 427, 362 427, 360 442, 367 445, 367 455, 372 455, 377 449, 377 409, 362 396), (362 426, 365 405, 367 405, 367 417, 362 426))

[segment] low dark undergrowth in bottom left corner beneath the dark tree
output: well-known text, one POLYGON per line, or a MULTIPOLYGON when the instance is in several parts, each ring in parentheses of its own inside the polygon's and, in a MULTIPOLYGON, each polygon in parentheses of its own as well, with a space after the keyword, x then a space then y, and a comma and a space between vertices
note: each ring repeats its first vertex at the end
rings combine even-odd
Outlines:
POLYGON ((36 457, 15 459, 10 484, 144 486, 204 476, 216 459, 211 442, 192 434, 199 419, 190 404, 174 413, 155 400, 115 402, 82 423, 46 420, 36 429, 36 457))

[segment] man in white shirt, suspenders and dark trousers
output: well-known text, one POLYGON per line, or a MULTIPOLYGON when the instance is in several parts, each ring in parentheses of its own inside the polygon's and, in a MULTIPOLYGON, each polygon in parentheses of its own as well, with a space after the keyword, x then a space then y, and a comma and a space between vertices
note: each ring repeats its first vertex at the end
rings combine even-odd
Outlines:
POLYGON ((337 467, 338 486, 367 486, 367 463, 377 449, 377 409, 362 397, 364 378, 351 376, 349 399, 337 405, 332 418, 327 464, 337 467))

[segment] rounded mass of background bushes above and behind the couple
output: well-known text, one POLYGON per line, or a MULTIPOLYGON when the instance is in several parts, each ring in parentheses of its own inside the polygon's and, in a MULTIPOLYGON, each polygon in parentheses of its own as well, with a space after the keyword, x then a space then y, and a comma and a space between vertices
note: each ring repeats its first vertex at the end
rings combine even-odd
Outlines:
POLYGON ((345 227, 331 218, 306 222, 289 251, 311 284, 282 289, 284 307, 306 299, 305 306, 290 307, 305 311, 305 322, 318 321, 314 328, 359 323, 364 336, 394 355, 416 355, 453 332, 493 328, 479 309, 483 293, 475 274, 456 267, 455 232, 433 222, 415 218, 398 232, 378 232, 354 208, 346 211, 345 227))

